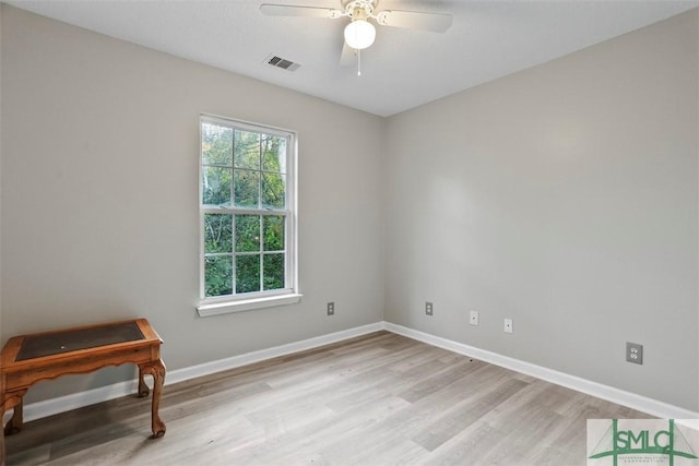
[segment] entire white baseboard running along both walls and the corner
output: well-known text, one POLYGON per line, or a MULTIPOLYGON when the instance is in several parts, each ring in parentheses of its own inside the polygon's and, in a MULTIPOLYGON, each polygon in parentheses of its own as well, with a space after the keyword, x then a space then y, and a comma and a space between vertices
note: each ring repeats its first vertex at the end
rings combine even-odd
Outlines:
MULTIPOLYGON (((695 413, 689 409, 673 406, 631 392, 626 392, 608 385, 603 385, 601 383, 592 382, 564 372, 558 372, 553 369, 532 365, 519 359, 498 355, 497 353, 491 353, 485 349, 464 345, 462 343, 441 338, 439 336, 430 335, 428 333, 419 332, 390 322, 376 322, 372 324, 348 328, 345 331, 308 338, 296 343, 289 343, 287 345, 247 353, 245 355, 205 362, 189 368, 177 369, 167 373, 165 378, 165 384, 169 385, 177 382, 183 382, 186 380, 194 379, 198 377, 209 375, 215 372, 239 368, 241 366, 260 362, 266 359, 286 356, 294 353, 304 351, 306 349, 317 348, 319 346, 341 342, 343 339, 348 339, 360 335, 366 335, 381 330, 387 330, 398 335, 403 335, 408 338, 426 343, 428 345, 445 348, 460 355, 473 357, 485 362, 511 369, 526 375, 535 377, 547 382, 566 386, 568 389, 577 390, 578 392, 617 403, 623 406, 628 406, 630 408, 648 413, 659 418, 699 419, 699 413, 695 413)), ((150 382, 150 378, 146 378, 146 382, 150 382)), ((112 385, 102 386, 99 389, 93 389, 85 392, 61 396, 58 398, 33 403, 24 407, 24 419, 26 421, 31 421, 47 416, 52 416, 58 413, 81 408, 83 406, 92 405, 95 403, 127 396, 135 393, 135 381, 119 382, 112 385)))

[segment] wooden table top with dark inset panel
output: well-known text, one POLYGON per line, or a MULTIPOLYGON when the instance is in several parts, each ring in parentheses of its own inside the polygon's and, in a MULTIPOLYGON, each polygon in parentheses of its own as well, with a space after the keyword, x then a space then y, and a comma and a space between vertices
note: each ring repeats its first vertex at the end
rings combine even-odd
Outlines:
POLYGON ((97 348, 161 343, 163 340, 145 319, 20 335, 10 338, 2 348, 0 371, 39 360, 92 354, 97 348))

